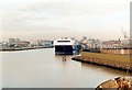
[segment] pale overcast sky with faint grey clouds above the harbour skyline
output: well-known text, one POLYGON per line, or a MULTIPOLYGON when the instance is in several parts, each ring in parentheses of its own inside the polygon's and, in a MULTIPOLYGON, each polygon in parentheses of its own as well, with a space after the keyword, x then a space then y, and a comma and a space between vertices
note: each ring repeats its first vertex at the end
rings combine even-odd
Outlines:
POLYGON ((131 0, 1 0, 2 37, 129 35, 131 0))

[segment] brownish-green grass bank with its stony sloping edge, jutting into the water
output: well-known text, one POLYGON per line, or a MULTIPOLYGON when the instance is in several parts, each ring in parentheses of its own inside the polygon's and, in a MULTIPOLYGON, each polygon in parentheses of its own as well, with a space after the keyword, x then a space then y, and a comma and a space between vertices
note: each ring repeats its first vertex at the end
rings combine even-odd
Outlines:
POLYGON ((82 63, 105 66, 109 68, 125 70, 125 71, 129 69, 129 71, 132 71, 130 56, 82 52, 81 56, 75 56, 72 59, 82 61, 82 63))

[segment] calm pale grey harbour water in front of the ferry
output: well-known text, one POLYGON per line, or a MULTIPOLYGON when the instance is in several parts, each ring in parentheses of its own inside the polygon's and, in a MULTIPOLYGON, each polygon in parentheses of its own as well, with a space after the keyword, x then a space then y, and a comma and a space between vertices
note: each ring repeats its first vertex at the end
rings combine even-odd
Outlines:
POLYGON ((125 72, 55 56, 54 48, 2 52, 2 88, 96 88, 125 72))

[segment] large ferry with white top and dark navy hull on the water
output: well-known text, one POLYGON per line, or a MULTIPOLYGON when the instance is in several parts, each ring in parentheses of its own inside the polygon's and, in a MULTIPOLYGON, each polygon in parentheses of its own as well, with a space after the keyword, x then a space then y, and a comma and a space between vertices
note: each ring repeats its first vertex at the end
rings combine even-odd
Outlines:
POLYGON ((55 55, 74 55, 79 53, 79 43, 67 37, 54 41, 54 47, 55 55))

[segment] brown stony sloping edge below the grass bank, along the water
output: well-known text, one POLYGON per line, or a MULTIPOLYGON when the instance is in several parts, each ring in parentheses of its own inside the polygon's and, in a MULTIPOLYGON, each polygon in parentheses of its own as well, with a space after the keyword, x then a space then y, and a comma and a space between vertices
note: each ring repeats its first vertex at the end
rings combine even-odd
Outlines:
POLYGON ((120 61, 113 61, 113 60, 108 60, 108 59, 102 59, 102 58, 97 58, 92 56, 75 56, 72 58, 73 60, 81 61, 81 63, 88 63, 92 65, 98 65, 98 66, 103 66, 112 69, 118 69, 122 71, 129 71, 132 72, 132 66, 131 64, 127 63, 120 63, 120 61))

